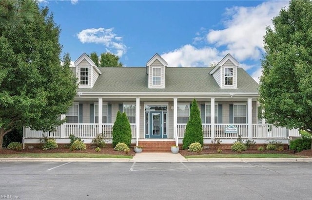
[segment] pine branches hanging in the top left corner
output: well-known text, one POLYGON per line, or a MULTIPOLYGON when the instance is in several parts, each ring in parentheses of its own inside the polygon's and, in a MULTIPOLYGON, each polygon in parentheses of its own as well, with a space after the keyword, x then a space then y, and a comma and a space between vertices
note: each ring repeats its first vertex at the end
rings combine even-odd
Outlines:
POLYGON ((34 0, 1 0, 0 24, 15 26, 20 19, 33 21, 36 15, 36 2, 34 0))

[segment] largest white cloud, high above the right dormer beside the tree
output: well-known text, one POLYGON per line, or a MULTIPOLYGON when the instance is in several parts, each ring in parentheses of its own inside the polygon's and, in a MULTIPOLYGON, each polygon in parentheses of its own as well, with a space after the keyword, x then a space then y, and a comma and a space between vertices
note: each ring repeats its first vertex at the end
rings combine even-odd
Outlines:
POLYGON ((272 25, 271 19, 287 5, 288 1, 267 1, 256 7, 227 8, 225 29, 209 30, 207 41, 217 47, 226 46, 226 51, 238 60, 259 59, 264 52, 266 26, 272 25))

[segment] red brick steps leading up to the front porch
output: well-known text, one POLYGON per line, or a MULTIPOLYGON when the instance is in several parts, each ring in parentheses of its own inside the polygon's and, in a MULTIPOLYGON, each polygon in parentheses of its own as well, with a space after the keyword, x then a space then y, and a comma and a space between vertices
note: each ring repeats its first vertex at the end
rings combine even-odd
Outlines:
POLYGON ((176 145, 175 141, 139 141, 143 146, 143 152, 171 152, 171 146, 176 145))

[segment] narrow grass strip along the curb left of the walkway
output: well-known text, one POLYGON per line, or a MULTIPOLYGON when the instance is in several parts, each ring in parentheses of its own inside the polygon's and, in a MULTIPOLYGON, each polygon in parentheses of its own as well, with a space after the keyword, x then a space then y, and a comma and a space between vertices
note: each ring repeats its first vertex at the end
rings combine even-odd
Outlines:
POLYGON ((1 158, 133 158, 130 155, 93 154, 93 153, 19 153, 2 154, 1 158))

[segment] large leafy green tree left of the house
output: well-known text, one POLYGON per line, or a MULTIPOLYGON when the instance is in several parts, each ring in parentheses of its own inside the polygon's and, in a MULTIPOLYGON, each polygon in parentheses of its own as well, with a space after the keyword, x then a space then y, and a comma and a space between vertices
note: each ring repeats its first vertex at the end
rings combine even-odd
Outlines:
POLYGON ((68 54, 61 65, 60 29, 48 8, 36 4, 33 21, 19 20, 16 27, 0 24, 0 148, 14 128, 48 131, 62 124, 59 115, 77 90, 68 54))

